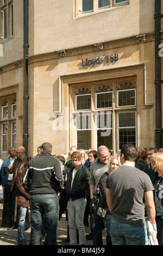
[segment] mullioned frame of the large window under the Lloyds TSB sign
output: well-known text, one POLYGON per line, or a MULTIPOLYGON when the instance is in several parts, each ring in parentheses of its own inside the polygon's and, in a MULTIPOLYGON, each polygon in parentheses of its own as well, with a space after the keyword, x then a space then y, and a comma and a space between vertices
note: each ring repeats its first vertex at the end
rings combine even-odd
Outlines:
MULTIPOLYGON (((85 131, 85 136, 83 135, 83 138, 86 137, 87 135, 87 131, 95 131, 95 138, 96 138, 96 149, 99 147, 99 145, 101 145, 101 143, 103 144, 105 140, 108 141, 108 147, 111 151, 113 151, 114 149, 114 139, 113 139, 113 136, 114 134, 116 134, 116 140, 117 140, 117 145, 116 145, 116 148, 117 150, 119 151, 120 150, 120 147, 119 147, 119 133, 118 133, 118 117, 119 117, 119 113, 120 112, 128 112, 130 113, 131 112, 131 109, 134 109, 134 112, 136 113, 136 104, 133 106, 123 106, 123 107, 119 107, 118 106, 118 90, 122 90, 122 88, 124 87, 124 91, 125 90, 128 90, 126 89, 126 84, 132 84, 132 87, 135 91, 135 103, 136 103, 136 79, 135 78, 131 78, 131 79, 125 79, 125 78, 122 78, 121 81, 102 81, 102 82, 97 82, 97 83, 86 83, 86 84, 77 84, 77 86, 73 86, 73 95, 78 95, 79 94, 79 91, 80 92, 84 92, 84 90, 88 91, 89 90, 89 94, 91 93, 91 101, 92 101, 92 104, 91 106, 95 106, 95 108, 92 108, 91 107, 91 110, 90 109, 79 109, 79 111, 77 111, 76 109, 76 96, 73 97, 73 105, 74 105, 74 112, 73 112, 73 116, 74 116, 74 123, 75 123, 75 127, 76 127, 76 131, 75 131, 75 137, 76 137, 76 145, 77 147, 79 148, 83 148, 84 150, 88 150, 88 148, 84 148, 84 146, 82 147, 82 144, 80 143, 78 145, 78 133, 81 133, 82 131, 84 132, 85 131), (109 92, 112 92, 113 94, 113 98, 112 99, 112 108, 108 107, 108 108, 97 108, 97 97, 96 97, 96 94, 99 93, 99 92, 104 92, 104 90, 102 88, 105 87, 105 92, 109 91, 109 92), (112 123, 110 123, 110 127, 108 127, 106 124, 108 123, 108 119, 109 119, 109 114, 111 113, 111 116, 112 116, 112 123), (85 116, 88 115, 89 116, 89 124, 86 124, 85 125, 85 116), (101 127, 98 127, 97 125, 97 122, 99 120, 100 117, 102 117, 104 115, 104 119, 105 119, 105 124, 103 124, 104 126, 101 127), (80 119, 80 122, 82 120, 83 123, 84 123, 84 128, 79 128, 79 125, 78 125, 78 121, 80 119), (114 124, 113 125, 113 120, 114 120, 114 124), (91 124, 91 127, 90 127, 90 124, 91 124), (116 133, 116 130, 117 130, 117 133, 116 133), (101 131, 101 136, 102 137, 105 137, 103 139, 100 138, 99 136, 99 131, 101 131), (109 136, 112 136, 112 138, 109 138, 109 136), (107 137, 107 138, 106 138, 107 137), (112 145, 111 145, 111 142, 112 142, 112 145)), ((132 88, 130 88, 130 90, 133 90, 132 88)), ((82 95, 82 94, 81 94, 82 95)), ((87 120, 88 120, 87 119, 87 120)), ((127 127, 126 127, 127 128, 127 127)), ((128 127, 128 129, 130 129, 130 127, 128 127)), ((137 133, 136 133, 136 126, 134 127, 134 131, 135 131, 135 146, 137 145, 137 133)), ((81 137, 81 136, 79 136, 81 137)), ((88 140, 90 141, 90 144, 92 145, 92 142, 91 142, 91 138, 92 136, 89 135, 89 138, 88 140)), ((129 138, 129 136, 127 137, 129 138)), ((126 143, 128 143, 128 141, 126 141, 126 143)), ((87 144, 87 139, 85 139, 85 144, 87 144)), ((84 145, 84 143, 83 143, 84 145)), ((90 147, 91 147, 90 145, 90 147)))

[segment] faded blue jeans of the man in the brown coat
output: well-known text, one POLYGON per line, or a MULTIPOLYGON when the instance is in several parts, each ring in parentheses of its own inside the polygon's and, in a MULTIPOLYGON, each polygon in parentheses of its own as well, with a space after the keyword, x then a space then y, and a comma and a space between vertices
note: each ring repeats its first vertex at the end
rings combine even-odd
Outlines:
POLYGON ((17 231, 18 231, 18 243, 25 243, 26 237, 24 234, 24 223, 26 220, 27 208, 17 206, 17 231))

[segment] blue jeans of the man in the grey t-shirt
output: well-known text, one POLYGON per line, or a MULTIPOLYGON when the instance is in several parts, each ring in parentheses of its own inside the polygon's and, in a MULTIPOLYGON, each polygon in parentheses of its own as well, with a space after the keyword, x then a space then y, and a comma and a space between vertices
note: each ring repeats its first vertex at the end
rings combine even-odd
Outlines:
POLYGON ((111 220, 110 234, 112 245, 148 245, 147 228, 111 220))

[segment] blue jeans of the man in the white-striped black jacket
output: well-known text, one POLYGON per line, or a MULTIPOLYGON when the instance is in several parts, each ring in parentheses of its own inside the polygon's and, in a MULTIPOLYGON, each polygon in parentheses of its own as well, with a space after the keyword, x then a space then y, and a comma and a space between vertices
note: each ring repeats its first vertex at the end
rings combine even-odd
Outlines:
POLYGON ((33 194, 30 196, 30 245, 40 245, 43 215, 47 229, 45 245, 55 245, 59 218, 57 194, 33 194))

